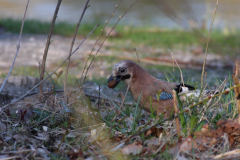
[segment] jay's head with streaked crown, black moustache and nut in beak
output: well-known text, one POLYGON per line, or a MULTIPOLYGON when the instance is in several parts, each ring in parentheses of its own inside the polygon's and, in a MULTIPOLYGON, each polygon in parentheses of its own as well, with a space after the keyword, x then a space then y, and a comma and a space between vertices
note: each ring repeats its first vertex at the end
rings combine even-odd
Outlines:
POLYGON ((136 65, 136 63, 129 60, 123 60, 115 64, 112 75, 108 79, 108 87, 115 88, 120 81, 124 81, 128 85, 133 76, 133 67, 136 65))

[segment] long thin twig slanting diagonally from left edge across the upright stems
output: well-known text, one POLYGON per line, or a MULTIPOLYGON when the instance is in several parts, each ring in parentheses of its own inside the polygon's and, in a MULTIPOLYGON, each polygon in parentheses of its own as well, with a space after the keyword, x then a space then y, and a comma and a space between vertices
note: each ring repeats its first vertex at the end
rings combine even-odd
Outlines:
POLYGON ((6 107, 8 107, 11 104, 14 104, 15 102, 19 101, 20 99, 24 98, 26 95, 28 95, 31 91, 33 91, 35 88, 37 88, 40 84, 42 84, 43 82, 45 82, 49 77, 51 77, 67 60, 69 57, 71 57, 78 49, 79 47, 83 44, 83 42, 93 33, 93 31, 99 26, 99 24, 97 24, 93 30, 82 40, 82 42, 78 45, 78 47, 72 52, 71 55, 69 55, 51 74, 49 74, 45 79, 43 79, 42 81, 40 81, 37 85, 35 85, 32 89, 30 89, 27 93, 25 93, 23 96, 21 96, 20 98, 18 98, 17 100, 15 100, 14 102, 11 102, 10 104, 7 104, 5 106, 3 106, 1 109, 4 109, 6 107))

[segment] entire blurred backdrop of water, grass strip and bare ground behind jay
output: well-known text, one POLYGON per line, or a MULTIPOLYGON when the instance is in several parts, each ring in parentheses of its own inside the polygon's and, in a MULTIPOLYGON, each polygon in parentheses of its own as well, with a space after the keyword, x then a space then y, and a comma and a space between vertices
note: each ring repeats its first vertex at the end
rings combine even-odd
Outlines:
MULTIPOLYGON (((72 58, 70 81, 75 84, 81 76, 84 62, 91 52, 106 20, 111 16, 120 0, 91 0, 76 44, 86 36, 97 23, 100 27, 72 58)), ((111 27, 133 4, 124 0, 117 8, 104 32, 111 27)), ((199 84, 208 32, 211 26, 215 0, 140 0, 117 24, 116 29, 104 43, 98 57, 89 70, 88 80, 106 83, 112 66, 122 59, 137 61, 157 78, 180 81, 178 68, 173 69, 172 56, 183 69, 184 79, 199 84), (134 50, 136 48, 136 51, 134 50), (169 51, 170 50, 170 51, 169 51)), ((27 0, 0 1, 0 67, 1 76, 6 75, 15 54, 21 20, 27 0)), ((58 13, 53 42, 49 49, 47 70, 51 71, 68 55, 71 37, 82 13, 85 0, 63 0, 58 13)), ((38 76, 57 0, 30 1, 22 40, 22 48, 16 61, 15 75, 38 76), (25 61, 26 57, 29 61, 25 61), (24 63, 23 63, 24 62, 24 63)), ((240 1, 219 1, 215 15, 206 65, 206 82, 218 85, 229 78, 235 59, 240 52, 240 1)), ((105 33, 100 39, 105 37, 105 33)), ((101 42, 101 41, 100 41, 101 42)), ((101 43, 97 44, 97 47, 101 43)), ((96 48, 97 48, 96 47, 96 48)), ((96 49, 95 49, 96 51, 96 49)), ((95 52, 93 52, 95 54, 95 52)), ((176 65, 175 65, 176 67, 176 65)), ((70 84, 70 85, 71 85, 70 84)))

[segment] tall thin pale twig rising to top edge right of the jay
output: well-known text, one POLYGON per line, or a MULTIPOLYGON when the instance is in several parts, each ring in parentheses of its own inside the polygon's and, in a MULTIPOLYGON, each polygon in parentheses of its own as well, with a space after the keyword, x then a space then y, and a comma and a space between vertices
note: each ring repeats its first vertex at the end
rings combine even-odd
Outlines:
MULTIPOLYGON (((208 33, 207 46, 206 46, 206 49, 205 49, 205 57, 204 57, 203 69, 202 69, 202 76, 201 76, 201 90, 202 90, 202 88, 203 88, 203 75, 204 75, 204 72, 205 72, 205 65, 206 65, 206 60, 207 60, 208 46, 209 46, 209 41, 210 41, 210 35, 211 35, 211 32, 212 32, 213 21, 214 21, 216 12, 217 12, 217 7, 218 7, 218 0, 217 0, 217 3, 216 3, 216 7, 215 7, 214 14, 213 14, 211 27, 210 27, 210 30, 209 30, 209 33, 208 33)), ((201 92, 201 93, 202 93, 202 92, 201 92)), ((201 97, 201 95, 200 95, 200 97, 201 97)))

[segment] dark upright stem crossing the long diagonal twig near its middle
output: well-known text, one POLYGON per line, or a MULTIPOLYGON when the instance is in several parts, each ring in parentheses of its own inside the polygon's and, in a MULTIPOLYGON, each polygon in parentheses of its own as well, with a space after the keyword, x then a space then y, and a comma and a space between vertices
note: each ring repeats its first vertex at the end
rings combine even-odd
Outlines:
MULTIPOLYGON (((89 3, 90 0, 87 0, 86 4, 85 4, 85 7, 82 11, 82 14, 81 14, 81 17, 78 21, 78 24, 77 24, 77 27, 76 27, 76 30, 75 30, 75 34, 73 36, 73 39, 72 39, 72 43, 71 43, 71 47, 70 47, 70 50, 69 50, 69 55, 71 55, 72 53, 72 49, 73 49, 73 45, 74 45, 74 42, 75 42, 75 39, 76 39, 76 36, 77 36, 77 32, 78 32, 78 28, 82 22, 82 18, 83 18, 83 15, 85 14, 85 11, 87 10, 88 8, 88 3, 89 3)), ((68 62, 67 62, 67 67, 66 67, 66 74, 65 74, 65 81, 63 83, 63 86, 64 86, 64 98, 65 98, 65 102, 67 103, 67 77, 68 77, 68 69, 69 69, 69 65, 70 65, 70 57, 68 59, 68 62)))

